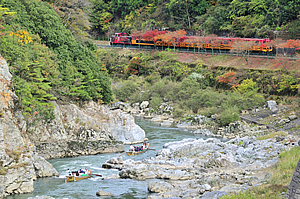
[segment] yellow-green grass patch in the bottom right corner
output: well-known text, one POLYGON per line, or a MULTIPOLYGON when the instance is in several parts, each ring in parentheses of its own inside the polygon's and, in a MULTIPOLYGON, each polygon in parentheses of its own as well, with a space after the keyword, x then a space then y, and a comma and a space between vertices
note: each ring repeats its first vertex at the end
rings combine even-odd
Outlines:
POLYGON ((253 187, 245 193, 223 196, 222 199, 281 199, 282 192, 287 192, 300 157, 300 147, 296 146, 279 155, 279 161, 272 167, 271 179, 262 185, 253 187))

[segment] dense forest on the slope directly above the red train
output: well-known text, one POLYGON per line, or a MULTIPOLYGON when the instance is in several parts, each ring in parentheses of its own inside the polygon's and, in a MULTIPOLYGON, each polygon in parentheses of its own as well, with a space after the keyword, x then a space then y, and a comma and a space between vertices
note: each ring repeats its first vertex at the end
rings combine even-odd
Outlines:
POLYGON ((274 31, 297 32, 300 27, 299 0, 91 2, 90 22, 96 35, 167 28, 185 29, 199 35, 272 38, 274 31))

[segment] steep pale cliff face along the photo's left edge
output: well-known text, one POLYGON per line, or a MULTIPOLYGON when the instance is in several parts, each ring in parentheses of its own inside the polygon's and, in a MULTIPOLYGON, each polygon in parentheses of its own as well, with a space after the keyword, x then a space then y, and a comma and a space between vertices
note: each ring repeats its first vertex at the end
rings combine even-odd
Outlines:
POLYGON ((33 191, 37 176, 58 175, 51 164, 34 152, 34 146, 19 130, 11 112, 16 97, 10 90, 11 77, 6 61, 0 56, 0 198, 33 191))

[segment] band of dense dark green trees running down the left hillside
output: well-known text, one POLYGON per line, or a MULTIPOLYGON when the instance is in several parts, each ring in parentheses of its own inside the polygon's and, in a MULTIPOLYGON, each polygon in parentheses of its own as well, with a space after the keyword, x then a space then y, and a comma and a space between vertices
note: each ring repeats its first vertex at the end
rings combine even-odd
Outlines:
POLYGON ((96 46, 88 41, 83 43, 76 40, 70 30, 61 23, 60 17, 50 4, 35 0, 6 0, 5 5, 11 9, 18 9, 18 23, 28 32, 39 34, 41 42, 57 54, 61 78, 60 89, 56 90, 57 95, 73 97, 70 91, 73 88, 73 79, 84 77, 82 81, 83 85, 87 86, 89 97, 81 98, 84 95, 79 95, 80 100, 104 103, 112 101, 109 76, 95 56, 96 46))

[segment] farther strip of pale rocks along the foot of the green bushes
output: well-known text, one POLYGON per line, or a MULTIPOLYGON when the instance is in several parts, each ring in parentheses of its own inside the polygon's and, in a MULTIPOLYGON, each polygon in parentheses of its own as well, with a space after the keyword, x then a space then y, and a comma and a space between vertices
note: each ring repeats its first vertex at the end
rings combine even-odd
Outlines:
POLYGON ((189 115, 174 119, 173 105, 162 103, 157 110, 149 108, 149 102, 123 103, 117 102, 110 107, 112 110, 122 110, 132 115, 158 122, 161 126, 176 126, 194 130, 195 134, 222 139, 233 139, 244 136, 261 136, 268 134, 270 129, 286 131, 289 134, 300 133, 300 112, 293 107, 278 105, 276 101, 267 101, 264 107, 255 107, 240 113, 241 121, 233 122, 226 127, 214 123, 215 115, 189 115))

